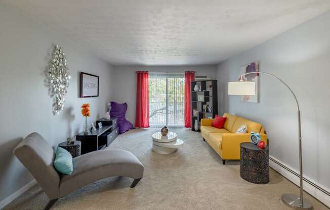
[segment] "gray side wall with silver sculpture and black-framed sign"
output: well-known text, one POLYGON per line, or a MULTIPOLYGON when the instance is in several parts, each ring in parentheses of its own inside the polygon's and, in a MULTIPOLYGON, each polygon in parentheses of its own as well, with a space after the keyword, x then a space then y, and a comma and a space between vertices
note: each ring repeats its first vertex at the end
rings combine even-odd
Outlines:
POLYGON ((113 67, 84 53, 45 26, 35 25, 19 11, 0 6, 0 201, 32 180, 32 176, 14 157, 14 147, 31 132, 38 132, 55 146, 66 137, 83 131, 82 103, 91 104, 88 122, 103 117, 110 100, 113 67), (67 56, 72 76, 65 110, 52 114, 52 98, 45 87, 45 70, 51 44, 60 44, 67 56), (78 97, 78 72, 100 76, 100 97, 78 97))

